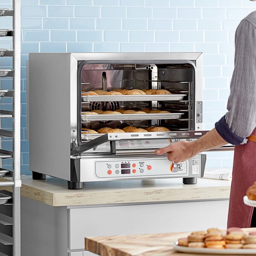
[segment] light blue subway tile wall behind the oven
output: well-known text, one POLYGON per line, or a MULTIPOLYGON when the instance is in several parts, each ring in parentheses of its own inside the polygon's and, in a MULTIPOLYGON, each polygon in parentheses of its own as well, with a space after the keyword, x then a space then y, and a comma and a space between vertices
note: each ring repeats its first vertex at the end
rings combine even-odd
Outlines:
MULTIPOLYGON (((12 9, 12 0, 0 8, 12 9)), ((21 173, 29 171, 26 140, 26 61, 29 52, 203 52, 203 129, 226 113, 233 72, 234 36, 240 20, 256 10, 249 0, 21 0, 21 173)), ((12 27, 1 17, 1 28, 12 27)), ((0 48, 12 49, 9 38, 0 48)), ((1 68, 12 60, 0 58, 1 68)), ((12 79, 0 87, 12 90, 12 79)), ((12 110, 3 98, 1 109, 12 110)), ((12 119, 1 121, 12 130, 12 119)), ((11 148, 11 140, 2 140, 11 148)), ((207 167, 232 166, 233 152, 207 152, 207 167)), ((10 160, 3 160, 12 169, 10 160)))

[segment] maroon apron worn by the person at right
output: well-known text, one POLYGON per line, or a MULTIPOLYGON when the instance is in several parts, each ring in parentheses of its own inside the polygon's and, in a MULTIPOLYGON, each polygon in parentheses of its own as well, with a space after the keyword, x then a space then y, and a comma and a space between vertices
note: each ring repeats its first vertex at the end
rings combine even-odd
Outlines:
MULTIPOLYGON (((256 128, 252 135, 256 135, 256 128)), ((256 143, 235 146, 227 227, 250 227, 253 209, 244 204, 246 190, 256 181, 256 143)))

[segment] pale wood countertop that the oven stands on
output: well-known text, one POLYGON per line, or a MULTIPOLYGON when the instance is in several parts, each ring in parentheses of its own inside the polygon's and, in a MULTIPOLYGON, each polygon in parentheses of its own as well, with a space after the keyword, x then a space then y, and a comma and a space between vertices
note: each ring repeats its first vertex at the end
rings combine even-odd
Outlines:
POLYGON ((87 182, 77 190, 67 189, 66 180, 54 177, 32 180, 25 175, 21 180, 21 196, 53 207, 228 200, 230 195, 230 180, 206 178, 198 178, 194 185, 184 185, 182 178, 87 182))

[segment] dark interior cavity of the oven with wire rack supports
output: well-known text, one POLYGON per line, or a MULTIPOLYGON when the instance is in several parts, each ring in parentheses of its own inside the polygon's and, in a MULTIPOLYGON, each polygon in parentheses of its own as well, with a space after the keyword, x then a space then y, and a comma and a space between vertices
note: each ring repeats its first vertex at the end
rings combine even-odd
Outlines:
MULTIPOLYGON (((81 62, 78 74, 78 123, 83 128, 98 131, 100 128, 165 127, 169 131, 195 129, 195 67, 190 63, 87 63, 81 62), (84 96, 95 90, 167 90, 170 95, 84 96), (85 94, 84 94, 85 93, 85 94), (80 98, 81 96, 81 98, 80 98), (180 96, 180 97, 175 97, 180 96), (97 100, 98 99, 98 100, 97 100), (102 119, 83 113, 92 110, 160 110, 170 114, 112 115, 102 119), (172 116, 171 116, 172 115, 172 116), (170 117, 169 117, 170 116, 170 117)), ((78 126, 79 127, 79 126, 78 126)), ((80 128, 80 127, 79 127, 80 128)), ((95 134, 81 131, 81 141, 91 140, 95 134)))

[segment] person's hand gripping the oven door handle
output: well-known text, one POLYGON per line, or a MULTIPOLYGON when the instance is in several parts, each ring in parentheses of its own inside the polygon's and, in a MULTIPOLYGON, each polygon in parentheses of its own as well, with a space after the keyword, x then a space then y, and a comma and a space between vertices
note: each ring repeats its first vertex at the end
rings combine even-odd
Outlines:
POLYGON ((178 142, 171 143, 165 148, 157 149, 156 154, 166 153, 168 160, 174 163, 184 162, 195 155, 190 144, 191 142, 180 140, 178 142))

